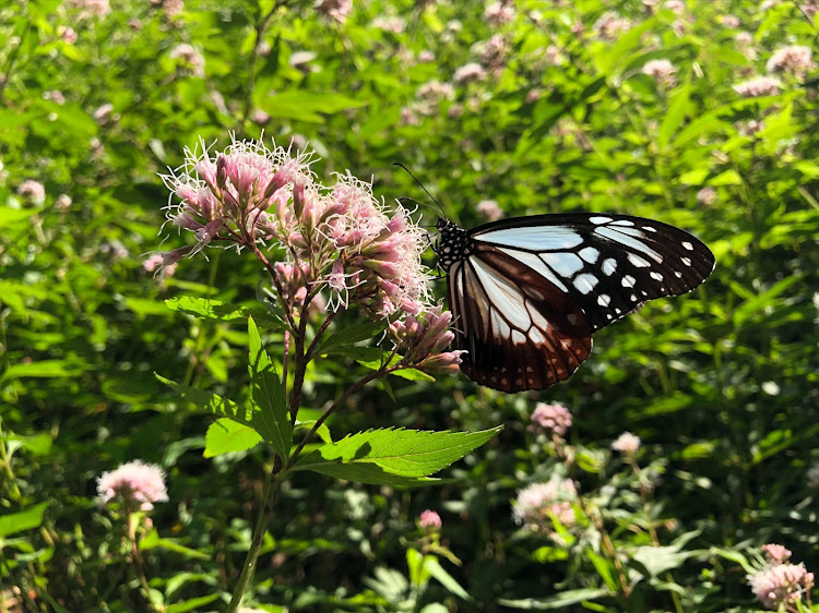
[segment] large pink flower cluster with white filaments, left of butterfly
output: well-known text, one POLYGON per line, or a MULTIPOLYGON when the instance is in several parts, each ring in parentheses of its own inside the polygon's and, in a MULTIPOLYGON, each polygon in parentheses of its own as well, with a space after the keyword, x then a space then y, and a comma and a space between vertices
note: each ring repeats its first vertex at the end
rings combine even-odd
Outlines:
POLYGON ((288 308, 321 289, 330 309, 355 302, 375 317, 417 315, 429 303, 426 235, 400 205, 390 216, 369 183, 347 173, 324 188, 310 170, 311 153, 294 156, 258 141, 234 140, 215 156, 202 144, 186 158, 163 179, 181 201, 168 206, 168 219, 197 238, 191 253, 213 241, 258 255, 278 248, 276 288, 288 308))

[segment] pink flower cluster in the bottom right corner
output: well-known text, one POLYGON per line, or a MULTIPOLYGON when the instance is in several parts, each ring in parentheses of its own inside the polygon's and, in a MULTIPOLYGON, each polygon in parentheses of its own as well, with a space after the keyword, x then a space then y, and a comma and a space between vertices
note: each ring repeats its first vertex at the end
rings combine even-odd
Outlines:
POLYGON ((762 545, 762 551, 765 564, 748 575, 753 594, 767 609, 795 611, 793 605, 814 587, 814 574, 804 564, 787 562, 791 551, 783 545, 770 543, 762 545))

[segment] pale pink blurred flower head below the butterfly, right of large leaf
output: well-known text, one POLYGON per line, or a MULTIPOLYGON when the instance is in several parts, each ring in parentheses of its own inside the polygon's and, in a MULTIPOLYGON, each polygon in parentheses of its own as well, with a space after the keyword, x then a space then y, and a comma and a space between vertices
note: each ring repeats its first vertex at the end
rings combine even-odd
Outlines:
POLYGON ((533 483, 520 490, 512 517, 517 524, 537 531, 548 532, 553 519, 563 526, 571 526, 574 524, 571 503, 577 497, 578 490, 571 479, 553 477, 546 483, 533 483))

